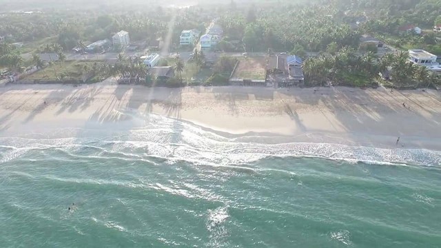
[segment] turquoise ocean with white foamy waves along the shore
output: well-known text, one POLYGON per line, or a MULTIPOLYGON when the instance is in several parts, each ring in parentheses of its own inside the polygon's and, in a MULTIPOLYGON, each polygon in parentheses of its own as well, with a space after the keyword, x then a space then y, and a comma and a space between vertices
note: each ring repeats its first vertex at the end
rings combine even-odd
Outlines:
POLYGON ((1 134, 0 247, 441 247, 440 152, 132 117, 1 134))

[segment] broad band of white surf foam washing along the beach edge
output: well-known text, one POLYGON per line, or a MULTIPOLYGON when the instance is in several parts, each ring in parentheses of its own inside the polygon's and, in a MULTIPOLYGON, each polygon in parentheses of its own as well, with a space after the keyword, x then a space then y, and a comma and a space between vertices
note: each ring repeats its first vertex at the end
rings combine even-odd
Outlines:
MULTIPOLYGON (((145 125, 119 123, 84 128, 48 130, 39 134, 0 137, 0 163, 25 157, 29 152, 57 148, 76 158, 121 158, 127 161, 164 159, 196 165, 227 167, 263 158, 320 157, 331 160, 384 165, 441 165, 441 152, 427 149, 384 149, 327 143, 277 143, 277 137, 229 138, 163 116, 151 115, 145 125), (271 139, 271 144, 261 143, 271 139), (246 141, 246 142, 245 142, 246 141)), ((29 158, 28 158, 29 159, 29 158)), ((253 172, 253 168, 243 167, 253 172)))

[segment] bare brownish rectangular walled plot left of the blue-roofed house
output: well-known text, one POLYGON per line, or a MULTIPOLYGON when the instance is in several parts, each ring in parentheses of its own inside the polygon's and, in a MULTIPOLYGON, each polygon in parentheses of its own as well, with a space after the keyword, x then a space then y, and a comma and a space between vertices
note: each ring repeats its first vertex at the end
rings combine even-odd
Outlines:
POLYGON ((245 58, 239 61, 232 78, 265 80, 267 75, 266 68, 267 59, 265 57, 245 58))

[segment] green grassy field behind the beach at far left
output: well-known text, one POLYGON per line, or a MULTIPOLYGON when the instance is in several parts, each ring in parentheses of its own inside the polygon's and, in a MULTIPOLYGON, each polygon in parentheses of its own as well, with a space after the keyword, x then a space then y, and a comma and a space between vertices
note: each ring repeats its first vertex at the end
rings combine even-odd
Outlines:
POLYGON ((101 61, 65 61, 61 64, 56 62, 43 70, 26 76, 25 79, 52 81, 64 77, 65 80, 82 80, 83 66, 87 65, 88 68, 92 68, 94 63, 101 63, 101 61))

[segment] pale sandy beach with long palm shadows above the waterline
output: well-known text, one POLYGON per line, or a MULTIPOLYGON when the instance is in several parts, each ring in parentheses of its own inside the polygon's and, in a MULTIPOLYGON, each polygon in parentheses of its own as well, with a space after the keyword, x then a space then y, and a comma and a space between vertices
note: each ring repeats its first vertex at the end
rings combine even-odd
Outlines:
POLYGON ((441 150, 440 92, 389 92, 381 87, 7 85, 0 88, 0 135, 39 132, 43 127, 127 123, 134 118, 125 114, 129 110, 145 121, 149 114, 159 114, 225 136, 278 137, 274 143, 441 150))

